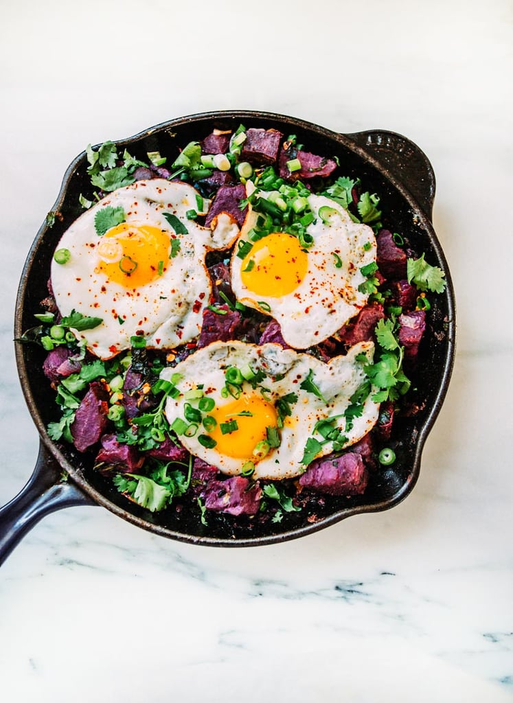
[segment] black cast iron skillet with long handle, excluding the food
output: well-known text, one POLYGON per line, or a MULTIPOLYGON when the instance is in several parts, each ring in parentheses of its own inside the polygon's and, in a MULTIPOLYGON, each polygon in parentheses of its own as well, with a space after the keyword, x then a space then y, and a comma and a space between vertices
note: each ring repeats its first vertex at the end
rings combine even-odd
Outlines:
MULTIPOLYGON (((42 373, 44 352, 32 344, 16 344, 16 361, 28 408, 40 434, 40 449, 34 474, 20 494, 0 509, 0 563, 20 539, 44 515, 69 505, 103 505, 116 515, 156 534, 179 541, 208 546, 256 546, 297 538, 327 527, 360 512, 392 508, 402 501, 419 477, 422 449, 441 408, 448 388, 455 354, 455 306, 450 273, 431 224, 435 193, 433 169, 422 151, 407 138, 390 131, 372 130, 357 134, 336 134, 315 124, 267 112, 209 112, 158 124, 131 138, 118 141, 141 159, 148 151, 160 151, 172 162, 192 140, 214 128, 274 127, 285 135, 297 134, 307 150, 320 155, 336 155, 341 175, 360 177, 365 189, 380 195, 380 204, 390 219, 389 226, 400 232, 406 245, 426 253, 426 260, 445 271, 447 288, 432 295, 429 329, 422 345, 417 391, 411 402, 416 413, 395 427, 393 446, 397 460, 388 470, 376 472, 363 496, 327 498, 310 521, 302 512, 287 513, 281 523, 256 524, 216 520, 201 524, 198 512, 167 510, 153 514, 123 498, 101 475, 92 470, 90 460, 70 448, 51 441, 46 425, 56 420, 48 381, 42 373)), ((65 173, 61 192, 49 218, 40 228, 28 254, 21 276, 15 311, 15 339, 34 325, 39 302, 47 295, 47 280, 53 250, 63 231, 78 217, 82 208, 80 193, 90 189, 87 158, 80 154, 65 173)))

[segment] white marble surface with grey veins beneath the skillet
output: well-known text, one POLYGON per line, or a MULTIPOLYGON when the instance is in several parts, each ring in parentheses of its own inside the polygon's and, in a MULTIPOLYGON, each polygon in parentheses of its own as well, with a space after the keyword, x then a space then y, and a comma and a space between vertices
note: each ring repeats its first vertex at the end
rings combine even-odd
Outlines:
POLYGON ((436 171, 458 311, 452 383, 406 501, 239 550, 167 541, 101 508, 46 517, 0 570, 1 698, 511 700, 511 4, 1 9, 0 503, 37 453, 13 354, 20 271, 89 142, 230 108, 405 134, 436 171))

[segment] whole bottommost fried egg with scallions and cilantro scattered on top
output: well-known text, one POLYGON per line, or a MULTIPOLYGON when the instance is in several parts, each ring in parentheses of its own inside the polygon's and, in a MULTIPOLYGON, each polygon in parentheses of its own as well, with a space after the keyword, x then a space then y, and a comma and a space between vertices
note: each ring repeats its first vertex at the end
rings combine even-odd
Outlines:
POLYGON ((213 342, 162 371, 173 389, 165 414, 189 452, 227 475, 295 477, 374 427, 379 404, 364 370, 373 354, 360 342, 324 363, 272 342, 213 342))

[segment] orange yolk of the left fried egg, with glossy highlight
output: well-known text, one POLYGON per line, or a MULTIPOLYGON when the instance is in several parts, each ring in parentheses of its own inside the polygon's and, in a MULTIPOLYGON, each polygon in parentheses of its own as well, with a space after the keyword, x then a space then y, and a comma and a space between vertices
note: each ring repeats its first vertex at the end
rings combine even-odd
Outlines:
POLYGON ((158 227, 122 222, 101 238, 96 271, 125 288, 139 288, 162 276, 170 257, 170 237, 158 227))

